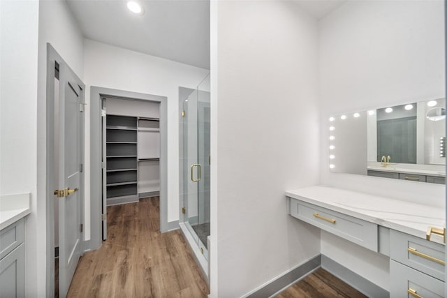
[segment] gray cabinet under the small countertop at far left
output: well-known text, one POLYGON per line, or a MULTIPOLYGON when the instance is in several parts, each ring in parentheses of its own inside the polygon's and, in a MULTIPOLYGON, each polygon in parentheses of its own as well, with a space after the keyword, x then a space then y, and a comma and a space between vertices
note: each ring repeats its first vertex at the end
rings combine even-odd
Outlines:
POLYGON ((25 296, 24 219, 0 232, 0 297, 25 296))

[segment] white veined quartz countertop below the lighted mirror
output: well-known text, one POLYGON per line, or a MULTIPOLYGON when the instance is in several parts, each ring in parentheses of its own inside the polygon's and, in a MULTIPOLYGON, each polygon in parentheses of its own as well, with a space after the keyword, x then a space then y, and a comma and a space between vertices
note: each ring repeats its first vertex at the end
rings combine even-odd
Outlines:
MULTIPOLYGON (((444 228, 446 223, 443 208, 329 186, 286 191, 286 196, 423 239, 429 226, 444 228)), ((443 238, 436 234, 432 234, 432 241, 444 244, 443 238)))

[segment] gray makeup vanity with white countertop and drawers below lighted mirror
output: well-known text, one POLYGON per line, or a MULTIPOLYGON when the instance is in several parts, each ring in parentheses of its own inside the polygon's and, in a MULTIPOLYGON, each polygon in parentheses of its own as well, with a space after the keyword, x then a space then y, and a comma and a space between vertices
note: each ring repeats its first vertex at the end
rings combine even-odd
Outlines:
POLYGON ((444 297, 444 209, 327 186, 286 197, 291 216, 388 256, 390 297, 444 297))

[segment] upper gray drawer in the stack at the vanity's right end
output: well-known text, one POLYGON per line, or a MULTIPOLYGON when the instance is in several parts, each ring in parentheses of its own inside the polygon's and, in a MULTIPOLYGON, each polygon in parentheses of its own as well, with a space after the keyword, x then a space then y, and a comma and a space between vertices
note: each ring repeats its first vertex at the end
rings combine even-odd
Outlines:
POLYGON ((391 230, 390 247, 391 259, 444 281, 444 245, 391 230))

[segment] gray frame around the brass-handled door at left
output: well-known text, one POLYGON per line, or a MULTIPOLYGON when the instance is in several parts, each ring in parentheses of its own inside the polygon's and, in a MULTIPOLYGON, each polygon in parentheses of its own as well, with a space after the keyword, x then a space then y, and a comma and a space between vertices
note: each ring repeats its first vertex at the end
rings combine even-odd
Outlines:
MULTIPOLYGON (((54 297, 54 189, 57 186, 53 185, 54 181, 54 68, 55 61, 60 64, 65 64, 68 68, 70 66, 64 59, 57 53, 57 51, 47 43, 47 79, 46 79, 46 175, 45 175, 45 211, 46 211, 46 292, 47 297, 54 297)), ((70 68, 71 69, 71 68, 70 68)), ((73 70, 72 70, 73 71, 73 70)), ((73 71, 74 73, 74 71, 73 71)), ((76 80, 82 82, 80 78, 76 76, 76 80)), ((82 82, 82 94, 80 101, 85 103, 85 84, 82 82)), ((80 162, 85 165, 85 113, 81 113, 80 119, 80 162)), ((80 223, 85 223, 85 171, 80 172, 80 223)), ((80 251, 81 255, 85 251, 85 239, 84 233, 81 233, 80 237, 80 251)))

